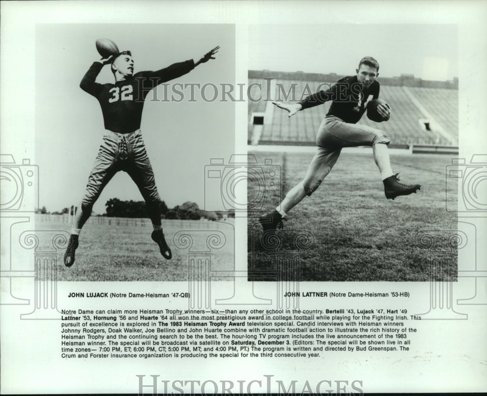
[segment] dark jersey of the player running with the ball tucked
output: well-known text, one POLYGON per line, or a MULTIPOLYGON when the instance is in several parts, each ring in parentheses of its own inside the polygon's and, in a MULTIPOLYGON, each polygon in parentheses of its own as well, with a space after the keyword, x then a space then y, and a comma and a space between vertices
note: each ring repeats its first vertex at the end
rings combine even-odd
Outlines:
POLYGON ((320 90, 299 103, 304 110, 332 100, 326 115, 334 115, 346 123, 356 124, 365 112, 368 100, 379 97, 379 90, 380 84, 377 80, 364 90, 354 75, 339 79, 330 89, 320 90))

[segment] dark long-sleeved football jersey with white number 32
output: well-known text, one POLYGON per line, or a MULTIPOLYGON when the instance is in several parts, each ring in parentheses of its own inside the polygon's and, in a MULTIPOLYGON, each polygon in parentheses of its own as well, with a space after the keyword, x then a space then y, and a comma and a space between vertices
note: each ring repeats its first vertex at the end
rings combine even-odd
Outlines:
POLYGON ((93 95, 101 106, 105 129, 131 133, 140 129, 147 94, 159 84, 180 77, 194 68, 193 60, 174 63, 157 72, 139 72, 115 84, 96 83, 103 64, 94 62, 81 80, 82 90, 93 95))

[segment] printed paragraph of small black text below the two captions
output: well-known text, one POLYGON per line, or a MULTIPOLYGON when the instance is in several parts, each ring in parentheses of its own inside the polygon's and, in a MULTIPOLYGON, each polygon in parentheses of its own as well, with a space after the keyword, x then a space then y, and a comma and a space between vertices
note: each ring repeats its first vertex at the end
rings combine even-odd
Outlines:
POLYGON ((62 359, 319 358, 403 353, 418 316, 362 309, 63 309, 62 359), (334 312, 331 312, 334 311, 334 312), (336 312, 335 312, 336 311, 336 312), (374 313, 372 313, 374 312, 374 313), (379 314, 384 312, 384 314, 379 314))

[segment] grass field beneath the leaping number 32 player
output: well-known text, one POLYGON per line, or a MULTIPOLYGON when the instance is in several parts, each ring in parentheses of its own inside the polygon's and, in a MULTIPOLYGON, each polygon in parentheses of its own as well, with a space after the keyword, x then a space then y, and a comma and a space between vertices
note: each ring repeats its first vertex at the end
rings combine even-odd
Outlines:
MULTIPOLYGON (((41 221, 36 216, 36 228, 42 230, 66 230, 68 224, 58 221, 41 221)), ((52 216, 51 216, 52 218, 52 216)), ((92 218, 96 220, 96 218, 92 218)), ((225 234, 226 243, 212 250, 211 270, 233 270, 234 221, 222 222, 196 220, 163 220, 164 234, 172 251, 170 260, 164 259, 157 245, 150 238, 150 221, 134 225, 130 221, 112 218, 112 224, 97 224, 90 221, 83 227, 76 250, 75 264, 66 268, 62 256, 58 262, 59 281, 186 281, 188 279, 188 249, 178 249, 173 236, 178 231, 188 230, 193 237, 191 250, 205 251, 206 237, 218 230, 225 234), (116 225, 119 223, 120 225, 116 225), (142 224, 142 225, 141 225, 142 224)), ((132 220, 132 219, 130 219, 132 220)), ((64 251, 62 252, 64 254, 64 251)))

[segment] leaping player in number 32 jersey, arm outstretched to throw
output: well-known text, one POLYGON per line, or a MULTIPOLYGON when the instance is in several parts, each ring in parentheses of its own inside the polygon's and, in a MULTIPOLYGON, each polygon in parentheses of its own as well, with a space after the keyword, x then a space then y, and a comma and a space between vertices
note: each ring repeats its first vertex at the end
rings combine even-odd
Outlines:
POLYGON ((215 47, 199 61, 187 60, 174 63, 157 72, 138 72, 133 74, 133 59, 130 51, 95 61, 81 80, 80 87, 93 95, 100 103, 105 122, 105 134, 93 170, 88 178, 86 192, 81 201, 81 210, 75 217, 71 229, 68 248, 64 254, 64 264, 71 267, 75 262, 75 250, 81 228, 91 215, 93 205, 103 188, 115 173, 129 174, 146 201, 147 213, 152 221, 152 240, 157 243, 164 258, 172 257, 162 231, 159 194, 155 185, 154 173, 147 156, 140 131, 142 109, 147 94, 159 84, 180 77, 205 63, 218 52, 215 47), (111 65, 114 84, 95 82, 104 65, 111 65))

